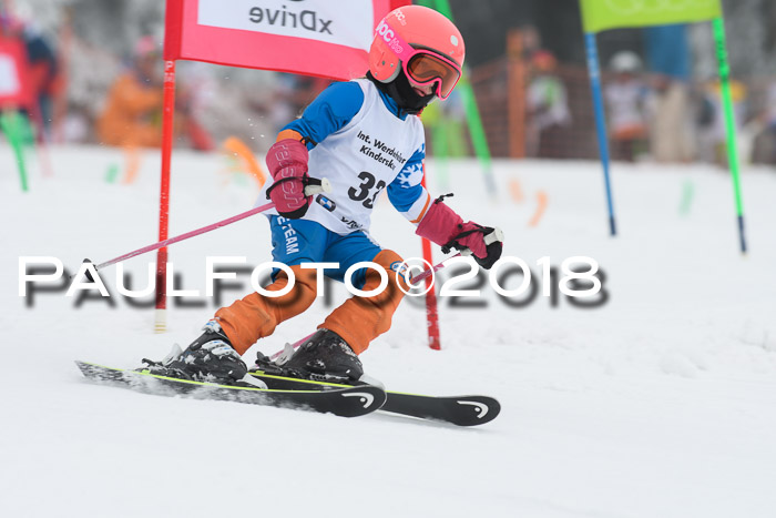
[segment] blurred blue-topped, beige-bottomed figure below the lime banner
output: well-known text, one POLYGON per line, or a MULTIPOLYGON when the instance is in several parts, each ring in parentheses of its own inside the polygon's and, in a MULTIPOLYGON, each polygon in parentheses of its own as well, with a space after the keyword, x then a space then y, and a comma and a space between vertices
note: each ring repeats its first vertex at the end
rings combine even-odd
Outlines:
POLYGON ((644 30, 650 71, 652 155, 658 162, 690 162, 695 154, 690 99, 690 44, 686 26, 644 30))

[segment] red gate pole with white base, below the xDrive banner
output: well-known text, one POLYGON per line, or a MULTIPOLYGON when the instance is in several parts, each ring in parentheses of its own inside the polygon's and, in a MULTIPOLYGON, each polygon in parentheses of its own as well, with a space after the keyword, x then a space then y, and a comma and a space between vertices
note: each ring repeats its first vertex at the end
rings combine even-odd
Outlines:
MULTIPOLYGON (((175 61, 164 61, 164 98, 162 115, 162 182, 159 199, 159 241, 167 240, 170 227, 170 166, 173 153, 173 122, 175 118, 175 61)), ((167 328, 167 247, 156 253, 156 314, 154 332, 167 328)))

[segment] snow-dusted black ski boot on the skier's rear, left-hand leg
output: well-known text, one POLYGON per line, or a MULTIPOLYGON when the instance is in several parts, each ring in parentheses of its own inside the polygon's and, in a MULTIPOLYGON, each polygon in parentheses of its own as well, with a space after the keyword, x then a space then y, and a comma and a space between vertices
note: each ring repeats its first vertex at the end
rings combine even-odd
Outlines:
POLYGON ((194 382, 235 385, 245 382, 248 368, 232 347, 216 321, 202 328, 204 333, 181 352, 175 346, 161 363, 144 360, 152 374, 192 379, 194 382))

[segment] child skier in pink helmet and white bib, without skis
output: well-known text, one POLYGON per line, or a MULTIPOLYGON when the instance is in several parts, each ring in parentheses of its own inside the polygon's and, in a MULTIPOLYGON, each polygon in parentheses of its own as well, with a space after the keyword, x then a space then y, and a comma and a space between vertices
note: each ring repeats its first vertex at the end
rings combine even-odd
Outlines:
MULTIPOLYGON (((278 297, 252 293, 222 307, 202 336, 157 369, 226 384, 248 379, 241 355, 315 301, 317 272, 308 263, 338 263, 325 274, 343 282, 351 265, 374 262, 389 273, 388 288, 377 296, 346 301, 284 364, 300 377, 358 380, 364 369, 357 355, 390 328, 404 296, 399 287, 408 290, 394 275, 401 257, 368 234, 372 205, 384 189, 391 204, 417 225, 416 234, 443 247, 471 251, 486 268, 496 263, 502 244, 494 240, 494 230, 464 223, 442 197, 432 200, 421 186, 425 138, 416 115, 433 99, 450 95, 461 77, 463 55, 460 32, 432 9, 402 7, 380 22, 366 78, 331 84, 300 119, 280 131, 267 153, 274 179, 265 185, 275 205, 267 212, 273 260, 290 268, 293 288, 278 297), (308 172, 326 176, 331 192, 305 195, 305 186, 313 182, 308 172), (486 244, 491 234, 488 242, 493 242, 486 244)), ((380 283, 375 270, 353 275, 359 290, 371 291, 380 283)), ((276 270, 265 290, 277 292, 288 284, 288 275, 276 270)))

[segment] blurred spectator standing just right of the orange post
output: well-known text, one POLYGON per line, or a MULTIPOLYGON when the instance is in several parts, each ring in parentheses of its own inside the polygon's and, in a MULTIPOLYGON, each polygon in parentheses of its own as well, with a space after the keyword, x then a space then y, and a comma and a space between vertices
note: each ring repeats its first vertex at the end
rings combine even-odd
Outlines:
POLYGON ((527 97, 529 156, 560 158, 560 133, 571 123, 565 85, 557 75, 557 68, 558 61, 551 52, 533 53, 527 97))

